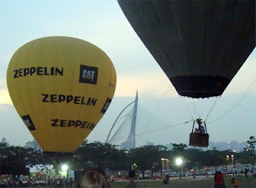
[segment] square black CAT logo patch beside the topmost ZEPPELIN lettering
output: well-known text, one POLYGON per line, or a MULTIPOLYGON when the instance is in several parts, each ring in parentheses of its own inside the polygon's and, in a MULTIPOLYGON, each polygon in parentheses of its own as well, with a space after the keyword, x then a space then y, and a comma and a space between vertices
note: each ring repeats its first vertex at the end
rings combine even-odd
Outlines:
POLYGON ((98 67, 80 65, 79 82, 97 84, 98 67))

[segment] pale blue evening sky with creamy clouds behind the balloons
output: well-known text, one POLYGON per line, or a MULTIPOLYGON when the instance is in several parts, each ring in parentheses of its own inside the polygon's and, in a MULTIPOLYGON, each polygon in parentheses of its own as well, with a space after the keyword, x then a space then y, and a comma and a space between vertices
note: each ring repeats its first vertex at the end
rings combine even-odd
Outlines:
POLYGON ((192 118, 207 117, 213 142, 245 142, 256 134, 256 50, 220 98, 178 96, 158 63, 134 32, 117 1, 0 1, 0 138, 24 146, 32 140, 6 86, 10 58, 26 42, 47 36, 81 38, 101 48, 114 63, 117 86, 109 110, 88 137, 105 142, 119 112, 138 90, 136 144, 188 142, 192 118), (214 106, 211 108, 211 106, 214 106), (188 122, 188 123, 185 123, 188 122))

